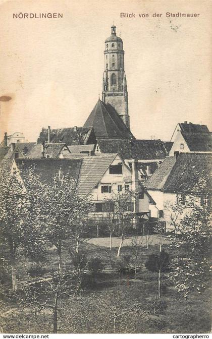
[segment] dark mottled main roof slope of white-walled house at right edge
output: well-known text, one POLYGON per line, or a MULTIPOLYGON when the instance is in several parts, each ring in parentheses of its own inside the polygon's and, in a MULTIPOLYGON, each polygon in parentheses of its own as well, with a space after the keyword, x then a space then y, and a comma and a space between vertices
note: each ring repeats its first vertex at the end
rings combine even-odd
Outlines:
POLYGON ((210 153, 180 153, 164 185, 165 192, 211 192, 210 153))

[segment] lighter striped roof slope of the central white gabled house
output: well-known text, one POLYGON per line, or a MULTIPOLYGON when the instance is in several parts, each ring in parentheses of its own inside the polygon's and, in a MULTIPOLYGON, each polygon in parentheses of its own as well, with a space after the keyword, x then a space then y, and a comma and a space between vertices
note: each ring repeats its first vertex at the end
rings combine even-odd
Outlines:
POLYGON ((88 194, 94 188, 116 155, 101 154, 83 158, 78 186, 79 194, 88 194))

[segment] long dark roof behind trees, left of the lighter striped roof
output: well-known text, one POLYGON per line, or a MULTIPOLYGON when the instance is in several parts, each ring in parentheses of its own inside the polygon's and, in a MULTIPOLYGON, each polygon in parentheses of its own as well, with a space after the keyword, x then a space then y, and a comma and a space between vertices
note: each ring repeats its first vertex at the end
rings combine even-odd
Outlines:
MULTIPOLYGON (((41 181, 46 184, 52 184, 55 175, 59 174, 59 170, 65 175, 70 175, 76 181, 79 179, 80 166, 82 159, 15 159, 20 170, 21 177, 24 180, 24 173, 27 168, 34 168, 34 173, 40 176, 41 181)), ((27 183, 25 183, 27 184, 27 183)))

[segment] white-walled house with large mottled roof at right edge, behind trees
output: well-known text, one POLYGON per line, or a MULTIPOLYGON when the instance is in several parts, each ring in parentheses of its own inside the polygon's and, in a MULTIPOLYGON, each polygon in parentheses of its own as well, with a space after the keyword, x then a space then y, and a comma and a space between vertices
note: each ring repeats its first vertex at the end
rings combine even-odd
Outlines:
POLYGON ((151 216, 165 220, 170 227, 169 204, 182 199, 185 203, 195 199, 203 205, 211 201, 211 153, 175 153, 167 157, 154 172, 145 188, 156 205, 150 205, 151 216))

